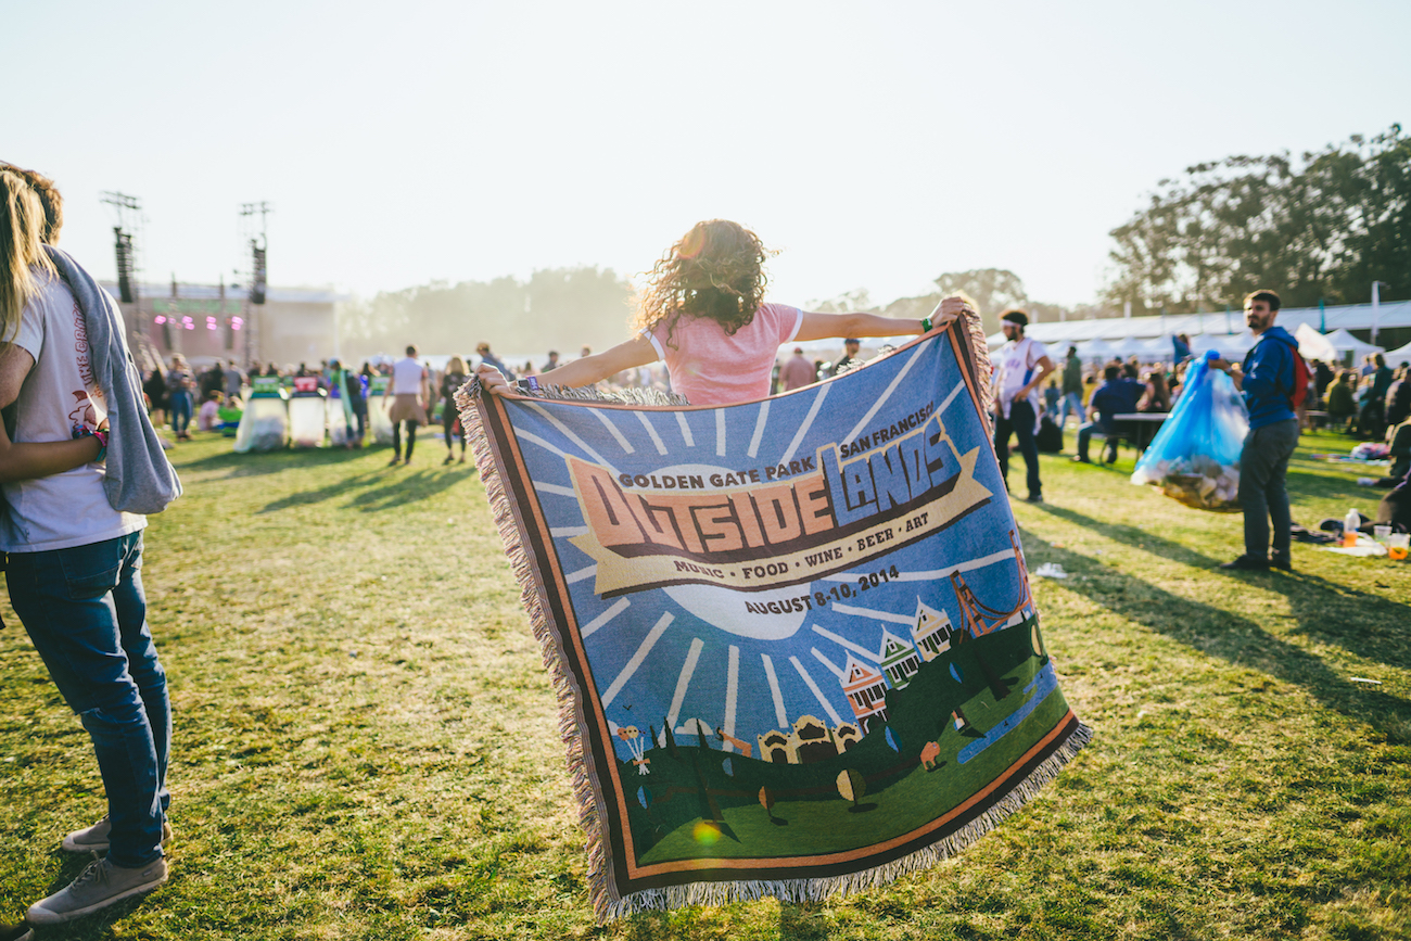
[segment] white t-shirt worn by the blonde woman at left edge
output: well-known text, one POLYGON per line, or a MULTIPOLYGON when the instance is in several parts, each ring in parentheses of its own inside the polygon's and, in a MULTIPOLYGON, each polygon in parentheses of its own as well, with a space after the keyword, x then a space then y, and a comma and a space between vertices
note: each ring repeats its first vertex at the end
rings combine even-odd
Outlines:
MULTIPOLYGON (((66 442, 73 426, 96 429, 106 418, 103 394, 87 356, 83 312, 59 278, 37 275, 44 285, 24 308, 16 346, 34 357, 20 387, 14 442, 66 442)), ((103 492, 106 468, 73 470, 0 485, 6 511, 0 521, 4 552, 48 552, 117 539, 147 526, 147 516, 113 509, 103 492)))

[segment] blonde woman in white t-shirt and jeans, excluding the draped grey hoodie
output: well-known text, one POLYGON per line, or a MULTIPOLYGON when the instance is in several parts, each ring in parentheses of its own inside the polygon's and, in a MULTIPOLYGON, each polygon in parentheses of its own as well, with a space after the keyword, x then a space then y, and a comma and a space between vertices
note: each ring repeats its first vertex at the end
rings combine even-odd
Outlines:
POLYGON ((0 406, 16 405, 16 443, 0 429, 0 550, 10 604, 93 741, 109 811, 63 839, 107 856, 25 914, 52 925, 166 882, 171 704, 147 628, 147 518, 104 492, 107 401, 78 353, 89 348, 86 320, 73 316, 42 226, 38 193, 0 169, 0 406))

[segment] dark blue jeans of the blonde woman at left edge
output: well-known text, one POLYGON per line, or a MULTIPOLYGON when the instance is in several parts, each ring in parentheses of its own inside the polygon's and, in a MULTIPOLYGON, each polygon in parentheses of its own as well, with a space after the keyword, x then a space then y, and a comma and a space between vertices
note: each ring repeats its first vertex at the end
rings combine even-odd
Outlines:
POLYGON ((11 553, 10 604, 69 708, 93 739, 109 859, 145 866, 162 855, 171 701, 147 628, 143 533, 51 552, 11 553))

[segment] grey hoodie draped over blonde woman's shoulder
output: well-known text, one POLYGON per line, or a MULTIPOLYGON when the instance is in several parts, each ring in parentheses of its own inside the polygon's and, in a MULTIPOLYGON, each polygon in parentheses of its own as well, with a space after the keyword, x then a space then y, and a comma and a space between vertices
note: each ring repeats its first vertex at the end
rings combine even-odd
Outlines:
POLYGON ((107 401, 107 502, 121 512, 159 514, 181 497, 181 480, 143 406, 143 377, 127 348, 117 302, 68 253, 44 250, 83 312, 89 361, 107 401))

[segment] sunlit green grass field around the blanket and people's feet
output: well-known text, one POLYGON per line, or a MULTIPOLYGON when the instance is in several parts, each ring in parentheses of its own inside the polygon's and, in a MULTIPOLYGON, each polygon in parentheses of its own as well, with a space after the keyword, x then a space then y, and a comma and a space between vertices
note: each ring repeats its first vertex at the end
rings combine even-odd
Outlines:
MULTIPOLYGON (((1314 526, 1374 494, 1305 460, 1314 526)), ((478 478, 418 449, 174 457, 147 530, 175 710, 172 879, 44 938, 1411 937, 1411 564, 1294 547, 1237 577, 1237 516, 1044 459, 1016 514, 1044 639, 1095 741, 955 859, 840 901, 595 927, 553 697, 478 478), (1377 680, 1379 684, 1355 681, 1377 680)), ((1022 474, 1022 464, 1019 473, 1022 474)), ((86 734, 3 605, 0 921, 83 866, 86 734)))

